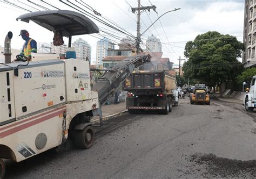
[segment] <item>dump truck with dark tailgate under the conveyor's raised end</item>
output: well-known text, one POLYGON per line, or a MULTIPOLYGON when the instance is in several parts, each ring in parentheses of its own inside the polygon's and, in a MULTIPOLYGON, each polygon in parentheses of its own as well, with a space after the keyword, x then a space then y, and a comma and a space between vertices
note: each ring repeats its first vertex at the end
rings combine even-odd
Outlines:
POLYGON ((168 114, 172 104, 179 102, 176 77, 164 70, 132 73, 125 80, 124 90, 128 91, 126 109, 129 113, 158 110, 168 114))

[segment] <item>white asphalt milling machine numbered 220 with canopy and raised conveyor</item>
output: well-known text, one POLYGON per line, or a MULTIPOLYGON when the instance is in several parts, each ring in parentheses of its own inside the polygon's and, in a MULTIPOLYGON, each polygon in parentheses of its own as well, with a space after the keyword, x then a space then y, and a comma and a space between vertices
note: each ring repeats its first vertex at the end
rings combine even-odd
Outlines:
MULTIPOLYGON (((99 32, 84 15, 68 10, 26 13, 17 20, 33 21, 53 33, 69 37, 99 32)), ((92 116, 100 117, 101 106, 131 75, 134 68, 150 61, 148 54, 128 56, 107 70, 90 86, 89 61, 60 60, 58 54, 32 54, 32 61, 17 55, 11 62, 11 38, 5 38, 5 63, 0 64, 0 178, 2 159, 23 161, 51 148, 70 144, 90 148, 95 139, 92 116), (51 59, 51 60, 50 60, 51 59)))

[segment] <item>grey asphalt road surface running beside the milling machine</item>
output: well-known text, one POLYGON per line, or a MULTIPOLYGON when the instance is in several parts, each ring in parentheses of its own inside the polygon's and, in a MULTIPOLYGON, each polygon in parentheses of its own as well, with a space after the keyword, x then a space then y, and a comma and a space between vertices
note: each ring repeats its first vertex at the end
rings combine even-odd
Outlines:
POLYGON ((8 162, 6 178, 253 178, 254 120, 256 112, 237 103, 181 99, 168 115, 125 113, 105 121, 90 149, 8 162))

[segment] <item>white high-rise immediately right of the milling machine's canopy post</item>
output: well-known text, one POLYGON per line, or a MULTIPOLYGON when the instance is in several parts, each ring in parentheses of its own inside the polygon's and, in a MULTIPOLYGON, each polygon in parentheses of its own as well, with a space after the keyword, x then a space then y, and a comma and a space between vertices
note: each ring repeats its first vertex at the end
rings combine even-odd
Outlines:
POLYGON ((77 59, 91 61, 91 46, 83 39, 79 38, 73 42, 72 47, 76 50, 77 59))

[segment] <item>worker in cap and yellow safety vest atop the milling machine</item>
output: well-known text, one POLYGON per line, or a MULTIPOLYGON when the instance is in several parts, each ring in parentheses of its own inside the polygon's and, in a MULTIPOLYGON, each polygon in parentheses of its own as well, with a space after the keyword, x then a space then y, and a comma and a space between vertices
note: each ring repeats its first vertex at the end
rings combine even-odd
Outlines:
POLYGON ((29 61, 31 61, 31 52, 37 53, 36 40, 29 38, 29 32, 26 30, 21 30, 22 39, 25 40, 25 43, 22 47, 21 55, 26 56, 29 61))

